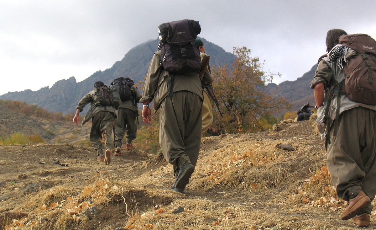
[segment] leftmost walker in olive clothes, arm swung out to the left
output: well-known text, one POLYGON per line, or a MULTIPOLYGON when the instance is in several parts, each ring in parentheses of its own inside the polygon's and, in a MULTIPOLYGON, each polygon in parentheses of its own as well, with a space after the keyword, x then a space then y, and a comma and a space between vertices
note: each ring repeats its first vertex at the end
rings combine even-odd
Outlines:
POLYGON ((83 96, 78 102, 76 114, 73 117, 73 123, 77 125, 80 112, 83 110, 85 105, 90 103, 91 107, 88 113, 86 113, 86 116, 82 121, 82 125, 92 119, 90 142, 97 151, 97 161, 104 161, 106 165, 111 162, 111 148, 113 144, 111 134, 115 125, 116 107, 112 105, 112 95, 109 95, 109 93, 112 92, 107 91, 106 93, 105 91, 107 89, 108 87, 102 81, 95 82, 94 90, 85 94, 85 96, 83 96), (101 142, 102 134, 104 135, 104 143, 101 142), (103 147, 106 149, 105 155, 103 155, 103 147))

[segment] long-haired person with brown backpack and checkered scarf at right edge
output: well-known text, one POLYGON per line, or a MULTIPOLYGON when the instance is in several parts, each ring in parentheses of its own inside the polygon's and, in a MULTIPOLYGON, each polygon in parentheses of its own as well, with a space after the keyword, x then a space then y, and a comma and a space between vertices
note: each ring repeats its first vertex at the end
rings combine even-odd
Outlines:
POLYGON ((376 42, 332 29, 326 47, 310 85, 317 127, 337 194, 348 201, 340 218, 367 227, 376 194, 376 42))

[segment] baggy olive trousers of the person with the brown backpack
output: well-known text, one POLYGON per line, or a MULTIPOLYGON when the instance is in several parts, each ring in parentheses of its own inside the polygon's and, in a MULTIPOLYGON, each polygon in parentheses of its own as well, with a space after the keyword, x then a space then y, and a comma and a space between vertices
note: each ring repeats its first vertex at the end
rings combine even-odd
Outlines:
MULTIPOLYGON (((356 107, 343 111, 335 121, 337 136, 330 130, 327 166, 337 194, 343 200, 364 193, 373 200, 376 193, 376 111, 356 107)), ((361 213, 370 214, 372 205, 361 213)))

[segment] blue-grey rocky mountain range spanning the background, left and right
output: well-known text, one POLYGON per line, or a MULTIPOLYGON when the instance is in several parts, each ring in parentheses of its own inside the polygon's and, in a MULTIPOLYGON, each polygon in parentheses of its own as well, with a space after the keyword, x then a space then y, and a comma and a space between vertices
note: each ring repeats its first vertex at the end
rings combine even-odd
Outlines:
MULTIPOLYGON (((205 40, 206 51, 211 56, 210 64, 223 66, 232 65, 235 56, 226 52, 221 47, 205 40)), ((135 82, 144 81, 150 60, 153 53, 157 50, 158 39, 150 40, 139 44, 129 50, 121 61, 105 71, 97 71, 87 79, 76 82, 74 77, 57 81, 52 87, 44 87, 38 91, 24 90, 20 92, 10 92, 0 96, 0 99, 11 99, 13 101, 24 101, 27 104, 36 104, 51 112, 62 112, 63 114, 74 112, 79 100, 93 88, 96 81, 103 81, 109 84, 113 79, 120 76, 128 76, 135 82)), ((313 90, 309 87, 317 64, 311 70, 297 78, 296 81, 284 81, 279 85, 269 84, 270 91, 276 90, 278 96, 285 97, 293 107, 290 111, 299 110, 304 104, 315 105, 313 90)), ((85 108, 85 111, 88 108, 85 108)), ((282 112, 286 112, 284 110, 282 112)))

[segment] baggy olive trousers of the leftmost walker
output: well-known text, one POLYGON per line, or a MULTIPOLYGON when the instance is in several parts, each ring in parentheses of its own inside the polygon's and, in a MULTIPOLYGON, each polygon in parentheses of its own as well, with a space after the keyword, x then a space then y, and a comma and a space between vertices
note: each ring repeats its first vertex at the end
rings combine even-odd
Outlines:
POLYGON ((107 111, 97 112, 92 118, 90 141, 97 152, 103 153, 103 146, 105 149, 112 148, 112 130, 115 125, 115 114, 107 111), (102 140, 102 133, 105 134, 104 145, 102 140))

